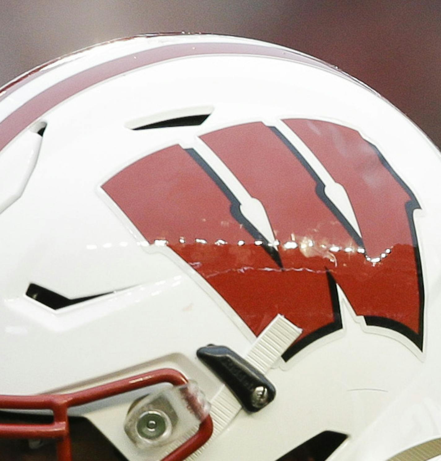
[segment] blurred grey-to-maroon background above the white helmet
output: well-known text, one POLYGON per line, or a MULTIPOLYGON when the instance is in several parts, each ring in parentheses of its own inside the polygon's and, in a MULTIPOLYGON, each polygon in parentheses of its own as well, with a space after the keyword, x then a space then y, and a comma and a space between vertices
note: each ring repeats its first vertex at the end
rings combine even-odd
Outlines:
POLYGON ((441 0, 0 0, 0 85, 93 43, 183 30, 243 35, 324 59, 441 146, 441 0))

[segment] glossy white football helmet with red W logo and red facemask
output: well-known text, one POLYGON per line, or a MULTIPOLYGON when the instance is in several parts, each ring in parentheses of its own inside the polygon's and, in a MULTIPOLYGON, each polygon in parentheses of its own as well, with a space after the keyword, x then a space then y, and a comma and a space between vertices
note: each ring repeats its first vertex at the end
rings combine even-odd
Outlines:
POLYGON ((441 459, 440 177, 375 91, 260 41, 7 84, 0 458, 441 459))

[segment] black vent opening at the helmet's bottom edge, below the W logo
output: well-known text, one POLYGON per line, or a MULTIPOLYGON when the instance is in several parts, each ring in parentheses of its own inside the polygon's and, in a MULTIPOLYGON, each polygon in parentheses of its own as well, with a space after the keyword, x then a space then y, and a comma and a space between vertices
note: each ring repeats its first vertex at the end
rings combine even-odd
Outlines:
POLYGON ((302 443, 277 461, 325 461, 346 440, 340 432, 324 431, 302 443))

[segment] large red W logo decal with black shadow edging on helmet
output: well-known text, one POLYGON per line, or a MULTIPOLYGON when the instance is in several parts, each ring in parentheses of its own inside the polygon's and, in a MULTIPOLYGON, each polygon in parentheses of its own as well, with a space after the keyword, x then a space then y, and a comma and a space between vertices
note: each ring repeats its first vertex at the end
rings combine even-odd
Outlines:
POLYGON ((367 325, 399 331, 422 349, 415 196, 357 131, 316 120, 284 122, 334 186, 344 187, 355 221, 329 198, 331 185, 295 142, 262 123, 201 136, 227 173, 197 149, 175 145, 102 187, 146 240, 167 240, 256 335, 278 313, 302 328, 285 360, 342 327, 336 284, 367 325), (263 220, 250 211, 259 205, 263 220))

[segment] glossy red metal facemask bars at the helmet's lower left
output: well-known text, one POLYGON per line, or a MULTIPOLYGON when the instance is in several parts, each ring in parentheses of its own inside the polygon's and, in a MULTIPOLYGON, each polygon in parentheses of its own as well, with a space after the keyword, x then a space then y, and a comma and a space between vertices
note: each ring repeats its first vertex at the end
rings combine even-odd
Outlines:
MULTIPOLYGON (((57 440, 58 461, 72 461, 71 437, 67 410, 70 407, 116 396, 131 390, 141 389, 154 384, 170 383, 183 386, 187 378, 171 368, 163 368, 152 372, 120 379, 71 394, 47 394, 37 396, 0 396, 0 408, 15 410, 52 410, 54 421, 51 424, 0 424, 1 438, 54 438, 57 440)), ((188 396, 188 405, 194 413, 201 412, 198 402, 188 396)), ((198 431, 167 455, 162 461, 183 461, 194 451, 202 447, 213 433, 213 422, 210 415, 201 422, 198 431)))

